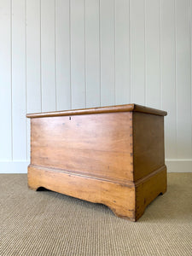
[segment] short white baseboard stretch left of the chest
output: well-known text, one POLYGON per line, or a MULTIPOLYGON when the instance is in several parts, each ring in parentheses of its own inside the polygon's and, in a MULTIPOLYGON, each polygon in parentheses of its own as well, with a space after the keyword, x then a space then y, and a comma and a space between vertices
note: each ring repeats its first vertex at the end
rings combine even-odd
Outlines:
POLYGON ((0 173, 27 173, 29 161, 0 161, 0 173))

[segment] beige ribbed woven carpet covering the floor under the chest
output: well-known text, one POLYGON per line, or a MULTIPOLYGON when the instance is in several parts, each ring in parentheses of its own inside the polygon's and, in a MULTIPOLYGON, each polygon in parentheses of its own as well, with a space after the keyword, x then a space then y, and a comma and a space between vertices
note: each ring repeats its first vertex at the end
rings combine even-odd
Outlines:
POLYGON ((168 191, 137 223, 26 182, 0 174, 1 256, 192 255, 192 173, 170 173, 168 191))

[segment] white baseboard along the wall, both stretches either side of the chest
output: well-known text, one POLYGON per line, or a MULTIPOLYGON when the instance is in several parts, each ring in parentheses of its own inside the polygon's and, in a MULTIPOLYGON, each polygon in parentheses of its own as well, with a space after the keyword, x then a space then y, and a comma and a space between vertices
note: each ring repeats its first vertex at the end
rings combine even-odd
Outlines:
MULTIPOLYGON (((0 161, 0 173, 26 173, 29 161, 0 161)), ((166 160, 167 172, 192 172, 192 160, 166 160)))

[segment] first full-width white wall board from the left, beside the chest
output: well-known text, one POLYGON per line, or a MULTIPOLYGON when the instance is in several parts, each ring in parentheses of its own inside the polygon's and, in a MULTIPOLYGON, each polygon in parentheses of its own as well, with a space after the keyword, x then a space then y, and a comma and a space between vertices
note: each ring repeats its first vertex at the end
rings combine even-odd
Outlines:
POLYGON ((25 0, 12 1, 12 135, 13 160, 26 160, 25 0))

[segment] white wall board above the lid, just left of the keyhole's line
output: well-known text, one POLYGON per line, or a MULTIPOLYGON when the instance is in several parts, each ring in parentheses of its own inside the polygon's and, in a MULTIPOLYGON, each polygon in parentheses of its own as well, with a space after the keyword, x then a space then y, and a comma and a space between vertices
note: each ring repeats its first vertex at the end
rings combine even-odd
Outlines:
POLYGON ((55 0, 56 110, 71 108, 70 1, 55 0))

